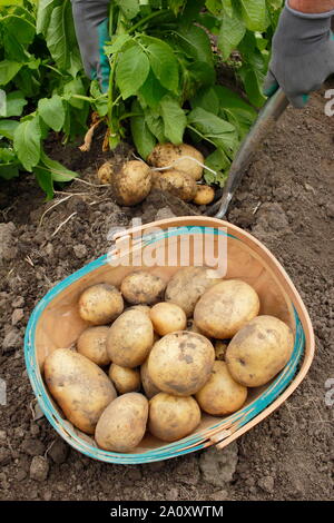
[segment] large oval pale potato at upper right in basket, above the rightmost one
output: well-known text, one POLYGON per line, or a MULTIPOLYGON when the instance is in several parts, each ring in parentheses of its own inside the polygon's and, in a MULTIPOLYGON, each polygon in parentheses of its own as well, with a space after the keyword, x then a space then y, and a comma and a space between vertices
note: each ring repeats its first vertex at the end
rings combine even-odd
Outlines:
POLYGON ((259 299, 250 285, 227 279, 209 288, 195 307, 194 319, 205 336, 232 338, 258 315, 259 299))

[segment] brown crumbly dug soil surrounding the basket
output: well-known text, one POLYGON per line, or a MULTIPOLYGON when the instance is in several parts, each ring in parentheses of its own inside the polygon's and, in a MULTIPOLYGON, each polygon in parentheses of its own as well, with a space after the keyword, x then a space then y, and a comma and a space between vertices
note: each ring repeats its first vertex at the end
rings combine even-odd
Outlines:
MULTIPOLYGON (((333 499, 334 407, 326 406, 325 384, 334 378, 334 120, 324 115, 324 103, 316 95, 307 109, 287 110, 256 155, 228 216, 263 241, 292 277, 314 323, 316 357, 294 395, 222 453, 210 448, 140 466, 95 462, 69 448, 46 418, 32 420, 39 411, 23 361, 32 308, 57 282, 110 248, 110 228, 134 217, 148 223, 200 209, 158 191, 138 207, 120 208, 106 188, 75 181, 62 190, 80 196, 60 203, 39 226, 56 201, 46 204, 30 176, 1 184, 0 376, 8 402, 0 406, 1 499, 333 499)), ((95 182, 96 168, 108 159, 99 146, 85 156, 55 141, 49 152, 95 182)), ((131 158, 128 148, 117 151, 116 160, 124 158, 131 158)))

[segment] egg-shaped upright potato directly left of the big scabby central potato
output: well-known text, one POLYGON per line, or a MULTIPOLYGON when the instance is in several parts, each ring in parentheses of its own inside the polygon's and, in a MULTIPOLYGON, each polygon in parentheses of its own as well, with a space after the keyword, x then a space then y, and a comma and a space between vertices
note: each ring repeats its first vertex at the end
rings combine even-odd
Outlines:
POLYGON ((126 310, 109 328, 107 352, 112 363, 135 368, 141 365, 154 344, 151 320, 141 310, 126 310))

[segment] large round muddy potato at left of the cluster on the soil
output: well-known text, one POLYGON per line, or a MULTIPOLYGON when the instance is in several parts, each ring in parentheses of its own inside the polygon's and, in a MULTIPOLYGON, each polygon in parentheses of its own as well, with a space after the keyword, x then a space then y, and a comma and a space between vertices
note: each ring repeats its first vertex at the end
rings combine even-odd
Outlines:
POLYGON ((111 185, 117 204, 127 207, 140 204, 151 189, 150 168, 144 161, 128 161, 115 172, 111 185))

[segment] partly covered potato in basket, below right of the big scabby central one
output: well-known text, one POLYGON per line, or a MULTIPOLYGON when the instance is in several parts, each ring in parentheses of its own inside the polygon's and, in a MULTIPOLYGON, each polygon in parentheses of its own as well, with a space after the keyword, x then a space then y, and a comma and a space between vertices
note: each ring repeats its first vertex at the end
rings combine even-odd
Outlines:
POLYGON ((225 362, 215 362, 209 379, 195 397, 207 414, 226 416, 242 408, 247 388, 232 377, 225 362))

